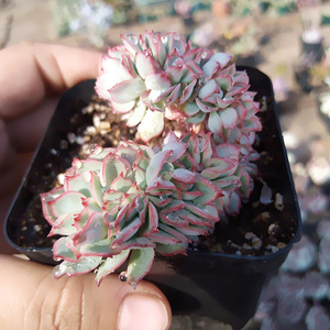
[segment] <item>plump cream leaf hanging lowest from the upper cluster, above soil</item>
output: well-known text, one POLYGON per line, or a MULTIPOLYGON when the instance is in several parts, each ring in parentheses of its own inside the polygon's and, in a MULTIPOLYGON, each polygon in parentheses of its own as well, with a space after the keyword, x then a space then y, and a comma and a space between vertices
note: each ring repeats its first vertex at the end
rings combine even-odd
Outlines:
POLYGON ((160 111, 146 110, 142 119, 138 132, 143 142, 147 143, 150 140, 158 136, 164 129, 164 113, 160 111))

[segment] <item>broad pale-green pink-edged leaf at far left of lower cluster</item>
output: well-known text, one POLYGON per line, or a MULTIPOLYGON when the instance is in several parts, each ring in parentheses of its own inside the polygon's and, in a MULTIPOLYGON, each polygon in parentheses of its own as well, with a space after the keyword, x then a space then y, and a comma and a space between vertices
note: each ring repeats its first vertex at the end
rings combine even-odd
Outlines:
POLYGON ((61 217, 67 213, 79 213, 84 206, 85 195, 77 191, 66 191, 47 202, 52 213, 61 217))

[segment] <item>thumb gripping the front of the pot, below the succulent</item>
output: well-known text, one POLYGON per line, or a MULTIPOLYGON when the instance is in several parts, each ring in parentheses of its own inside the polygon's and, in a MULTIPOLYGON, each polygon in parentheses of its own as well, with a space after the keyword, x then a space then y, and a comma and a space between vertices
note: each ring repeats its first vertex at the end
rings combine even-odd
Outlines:
POLYGON ((55 280, 52 267, 0 255, 0 329, 168 329, 170 307, 153 284, 134 290, 117 275, 98 287, 92 274, 55 280))

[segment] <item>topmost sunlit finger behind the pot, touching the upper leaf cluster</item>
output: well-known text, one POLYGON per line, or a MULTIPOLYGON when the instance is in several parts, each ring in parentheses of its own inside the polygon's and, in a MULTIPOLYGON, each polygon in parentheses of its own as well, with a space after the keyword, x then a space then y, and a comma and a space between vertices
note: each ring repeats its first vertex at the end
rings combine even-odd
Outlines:
POLYGON ((33 109, 46 95, 58 95, 96 78, 101 54, 62 45, 21 43, 0 52, 0 118, 33 109))

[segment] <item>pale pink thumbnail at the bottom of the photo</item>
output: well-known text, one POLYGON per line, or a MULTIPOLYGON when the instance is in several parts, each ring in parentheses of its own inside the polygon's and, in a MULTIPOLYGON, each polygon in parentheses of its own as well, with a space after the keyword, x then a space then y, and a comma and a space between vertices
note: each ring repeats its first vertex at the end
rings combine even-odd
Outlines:
POLYGON ((164 302, 154 295, 128 295, 120 307, 118 330, 165 330, 168 324, 164 302))

